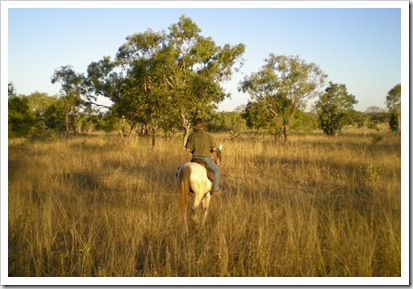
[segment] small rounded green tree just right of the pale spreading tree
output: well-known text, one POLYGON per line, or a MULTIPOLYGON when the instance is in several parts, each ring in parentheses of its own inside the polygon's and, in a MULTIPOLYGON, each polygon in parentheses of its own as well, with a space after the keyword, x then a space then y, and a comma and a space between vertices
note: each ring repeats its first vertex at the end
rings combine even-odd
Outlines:
POLYGON ((330 82, 325 93, 316 103, 319 126, 327 135, 338 135, 341 129, 352 122, 354 95, 347 92, 344 84, 330 82))

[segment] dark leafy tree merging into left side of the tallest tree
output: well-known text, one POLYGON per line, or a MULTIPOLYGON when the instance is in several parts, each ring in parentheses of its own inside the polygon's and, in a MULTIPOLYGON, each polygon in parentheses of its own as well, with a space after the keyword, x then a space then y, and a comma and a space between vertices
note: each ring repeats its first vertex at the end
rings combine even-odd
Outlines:
POLYGON ((127 37, 116 55, 124 72, 120 97, 114 108, 131 122, 131 130, 141 123, 151 125, 153 145, 159 122, 168 116, 169 89, 165 85, 168 53, 166 35, 147 30, 127 37))

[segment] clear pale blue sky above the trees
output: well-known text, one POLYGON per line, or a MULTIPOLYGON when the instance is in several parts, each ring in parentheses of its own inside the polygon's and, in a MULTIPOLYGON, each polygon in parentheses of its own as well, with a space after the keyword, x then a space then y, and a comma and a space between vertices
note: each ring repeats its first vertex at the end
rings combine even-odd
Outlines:
MULTIPOLYGON (((408 2, 407 2, 408 3, 408 2)), ((272 7, 272 6, 271 6, 272 7)), ((345 84, 357 110, 385 108, 387 92, 401 82, 401 9, 398 8, 9 8, 8 81, 17 93, 57 94, 55 69, 79 73, 116 55, 125 38, 150 28, 167 30, 190 17, 218 45, 244 43, 245 64, 224 84, 231 111, 248 101, 237 91, 270 53, 298 55, 317 64, 328 80, 345 84)))

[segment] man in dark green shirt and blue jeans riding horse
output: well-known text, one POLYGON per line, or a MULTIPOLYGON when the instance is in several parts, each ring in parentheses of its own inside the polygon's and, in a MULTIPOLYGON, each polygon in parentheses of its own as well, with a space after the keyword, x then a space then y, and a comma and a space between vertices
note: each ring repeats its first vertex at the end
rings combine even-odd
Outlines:
MULTIPOLYGON (((221 193, 219 188, 219 171, 215 161, 211 158, 211 152, 218 149, 215 138, 212 134, 204 130, 205 124, 202 119, 198 118, 194 123, 194 131, 189 135, 188 141, 185 145, 187 152, 192 153, 192 160, 200 160, 207 163, 209 168, 214 172, 214 184, 211 195, 218 195, 221 193)), ((192 161, 191 160, 191 161, 192 161)))

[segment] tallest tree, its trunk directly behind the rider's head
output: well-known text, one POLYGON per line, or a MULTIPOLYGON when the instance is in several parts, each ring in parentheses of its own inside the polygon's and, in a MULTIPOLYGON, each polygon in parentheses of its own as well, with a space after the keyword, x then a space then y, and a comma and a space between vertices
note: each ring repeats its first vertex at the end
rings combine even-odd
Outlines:
MULTIPOLYGON (((215 104, 229 96, 221 83, 230 80, 234 69, 238 69, 234 65, 241 60, 245 45, 218 46, 212 38, 201 36, 201 29, 184 16, 169 31, 168 46, 174 53, 174 62, 167 83, 172 91, 173 110, 187 136, 191 120, 209 114, 215 104)), ((239 63, 242 66, 242 61, 239 63)))

